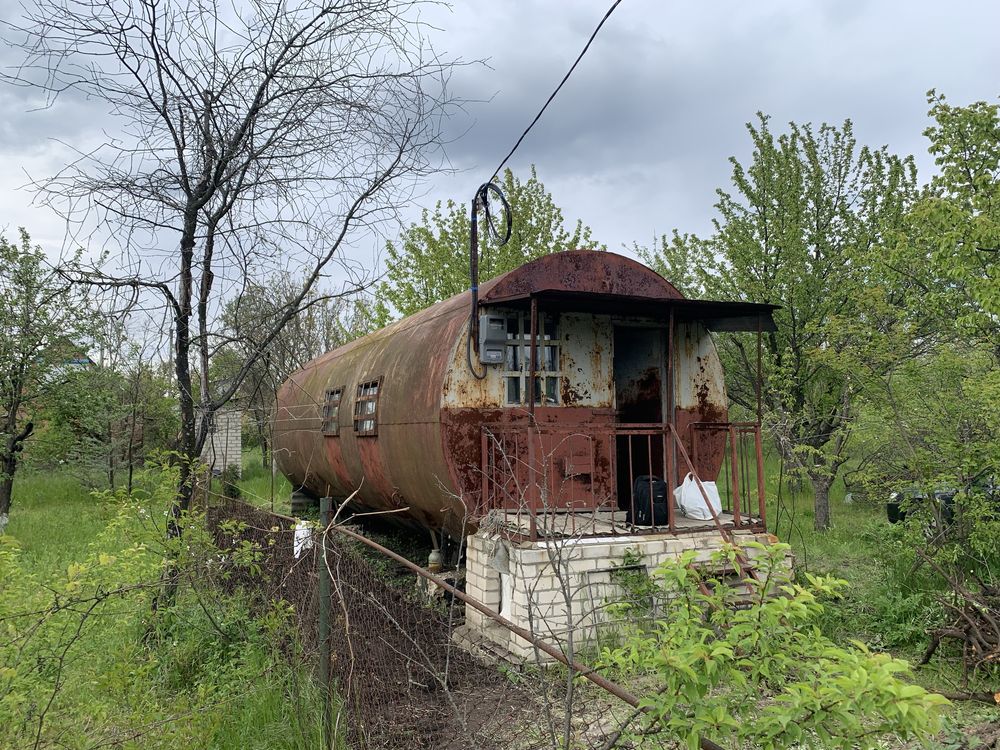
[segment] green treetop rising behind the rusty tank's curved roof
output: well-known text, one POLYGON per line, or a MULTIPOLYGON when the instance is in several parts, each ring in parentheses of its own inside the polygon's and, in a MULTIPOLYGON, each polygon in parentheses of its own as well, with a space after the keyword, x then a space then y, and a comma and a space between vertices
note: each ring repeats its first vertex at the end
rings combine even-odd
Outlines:
MULTIPOLYGON (((590 227, 579 219, 572 231, 566 228, 562 210, 534 167, 524 182, 505 169, 500 187, 510 202, 513 230, 502 247, 488 232, 480 231, 480 281, 542 255, 595 247, 590 227)), ((376 290, 374 304, 379 326, 469 288, 470 231, 468 204, 438 201, 433 213, 425 210, 419 224, 411 225, 398 242, 386 245, 386 280, 376 290)))

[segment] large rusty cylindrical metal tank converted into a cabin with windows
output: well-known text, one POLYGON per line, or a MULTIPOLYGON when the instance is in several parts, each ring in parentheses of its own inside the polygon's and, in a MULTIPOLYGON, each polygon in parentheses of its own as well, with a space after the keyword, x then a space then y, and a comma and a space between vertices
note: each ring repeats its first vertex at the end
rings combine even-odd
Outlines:
MULTIPOLYGON (((651 269, 614 253, 544 256, 482 284, 479 312, 502 319, 507 332, 502 363, 472 355, 482 377, 467 362, 470 303, 469 292, 456 295, 291 376, 278 393, 274 444, 293 486, 354 494, 358 509, 460 532, 488 510, 486 436, 495 430, 584 435, 589 453, 553 439, 546 465, 558 469, 559 487, 589 492, 583 507, 610 506, 623 485, 616 431, 662 429, 670 420, 690 441, 690 423, 726 419, 709 331, 711 321, 733 319, 739 311, 726 305, 734 303, 685 300, 651 269)), ((713 478, 722 449, 711 439, 698 448, 699 473, 713 478)))

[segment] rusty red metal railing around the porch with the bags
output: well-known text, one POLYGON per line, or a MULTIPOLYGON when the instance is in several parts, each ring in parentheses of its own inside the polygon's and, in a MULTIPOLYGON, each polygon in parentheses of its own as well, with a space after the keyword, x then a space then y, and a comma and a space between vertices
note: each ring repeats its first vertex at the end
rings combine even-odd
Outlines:
POLYGON ((531 539, 539 536, 540 517, 544 519, 541 536, 551 533, 553 524, 563 535, 683 533, 721 528, 720 524, 763 530, 764 475, 758 425, 697 422, 689 426, 686 437, 687 441, 682 440, 669 423, 614 424, 596 431, 594 425, 484 425, 482 491, 476 515, 506 511, 524 518, 526 536, 531 539), (679 515, 673 489, 681 483, 682 473, 694 474, 699 485, 707 481, 708 477, 699 476, 695 468, 706 473, 706 466, 709 473, 718 474, 725 517, 698 524, 679 515), (639 490, 640 480, 649 483, 645 493, 639 490), (756 513, 751 510, 754 489, 756 513), (637 503, 637 490, 646 495, 648 507, 637 503), (665 495, 659 498, 660 503, 656 502, 658 494, 665 495), (601 513, 604 522, 596 523, 601 513), (558 520, 553 522, 555 514, 558 520))

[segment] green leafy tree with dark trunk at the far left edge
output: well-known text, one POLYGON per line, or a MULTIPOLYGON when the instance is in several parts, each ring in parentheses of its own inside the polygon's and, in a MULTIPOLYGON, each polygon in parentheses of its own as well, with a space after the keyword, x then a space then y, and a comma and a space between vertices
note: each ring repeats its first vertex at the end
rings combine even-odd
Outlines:
POLYGON ((24 229, 19 243, 0 236, 0 533, 36 412, 84 354, 91 320, 86 297, 48 265, 24 229))

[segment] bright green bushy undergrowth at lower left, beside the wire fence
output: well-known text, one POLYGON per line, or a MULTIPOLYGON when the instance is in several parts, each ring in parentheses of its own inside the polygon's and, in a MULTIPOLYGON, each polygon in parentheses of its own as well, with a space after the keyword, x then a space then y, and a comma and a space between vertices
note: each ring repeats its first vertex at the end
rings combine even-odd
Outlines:
POLYGON ((117 513, 63 571, 31 570, 0 537, 0 747, 318 746, 321 697, 288 608, 212 585, 232 566, 252 573, 260 551, 220 568, 195 516, 168 541, 175 470, 138 484, 103 496, 117 513))

